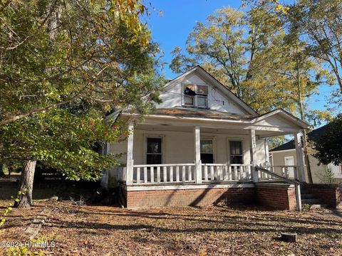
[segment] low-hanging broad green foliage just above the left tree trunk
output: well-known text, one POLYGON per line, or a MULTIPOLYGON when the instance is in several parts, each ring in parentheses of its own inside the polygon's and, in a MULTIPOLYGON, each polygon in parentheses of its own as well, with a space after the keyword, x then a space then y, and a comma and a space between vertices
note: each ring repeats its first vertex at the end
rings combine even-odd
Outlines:
POLYGON ((12 122, 1 130, 2 161, 43 161, 75 180, 96 179, 100 170, 115 164, 118 155, 103 156, 93 149, 96 144, 127 135, 123 124, 108 124, 103 118, 74 115, 63 109, 12 122))

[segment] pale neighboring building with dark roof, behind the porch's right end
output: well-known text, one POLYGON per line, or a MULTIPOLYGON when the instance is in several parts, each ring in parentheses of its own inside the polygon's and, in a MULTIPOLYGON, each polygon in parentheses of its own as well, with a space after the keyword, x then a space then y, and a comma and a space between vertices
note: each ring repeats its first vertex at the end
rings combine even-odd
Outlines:
MULTIPOLYGON (((323 134, 326 126, 320 127, 318 129, 314 129, 312 132, 308 133, 308 138, 313 139, 314 137, 319 137, 321 134, 323 134)), ((294 140, 291 140, 290 142, 286 142, 285 144, 282 144, 280 146, 277 146, 274 149, 271 149, 270 151, 270 162, 272 166, 296 166, 297 164, 297 156, 296 156, 296 149, 294 146, 294 140)), ((319 164, 318 159, 316 159, 314 156, 309 155, 309 161, 310 161, 310 169, 311 169, 311 176, 314 183, 329 183, 331 181, 331 178, 329 178, 331 175, 327 174, 327 170, 331 171, 331 174, 333 174, 333 182, 334 183, 341 183, 342 181, 342 167, 341 166, 335 166, 333 164, 319 164)), ((289 176, 290 178, 294 176, 293 170, 291 167, 288 168, 289 170, 289 176)), ((306 181, 307 179, 307 169, 305 166, 304 161, 304 170, 306 174, 306 181)), ((274 171, 277 174, 281 174, 281 167, 274 167, 274 171)))

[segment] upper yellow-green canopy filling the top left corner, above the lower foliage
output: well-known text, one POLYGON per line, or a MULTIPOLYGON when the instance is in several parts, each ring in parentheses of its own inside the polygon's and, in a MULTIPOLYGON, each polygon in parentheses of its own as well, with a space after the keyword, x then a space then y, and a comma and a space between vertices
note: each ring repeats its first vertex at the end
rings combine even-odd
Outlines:
POLYGON ((80 97, 123 107, 118 95, 158 51, 140 0, 9 0, 0 10, 0 125, 80 97))

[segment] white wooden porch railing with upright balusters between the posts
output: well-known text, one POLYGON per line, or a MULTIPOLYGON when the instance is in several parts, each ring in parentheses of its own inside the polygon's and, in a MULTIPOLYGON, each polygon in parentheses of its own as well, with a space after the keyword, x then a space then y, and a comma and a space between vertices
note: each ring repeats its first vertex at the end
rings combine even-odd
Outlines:
MULTIPOLYGON (((290 180, 298 179, 296 175, 297 166, 267 166, 262 168, 290 180)), ((202 183, 252 181, 252 169, 253 167, 250 164, 201 164, 202 183)), ((123 167, 122 171, 123 181, 125 181, 126 167, 123 167)), ((273 175, 263 171, 259 171, 258 176, 260 181, 276 181, 273 175)), ((196 183, 195 164, 133 165, 133 185, 165 183, 196 183)))

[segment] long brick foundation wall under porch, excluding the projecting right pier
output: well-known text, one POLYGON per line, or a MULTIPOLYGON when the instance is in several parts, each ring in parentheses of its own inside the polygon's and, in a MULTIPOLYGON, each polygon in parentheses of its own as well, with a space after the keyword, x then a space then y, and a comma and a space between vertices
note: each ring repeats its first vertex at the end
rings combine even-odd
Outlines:
POLYGON ((159 208, 251 204, 255 201, 254 186, 230 188, 187 188, 126 191, 128 208, 159 208))

